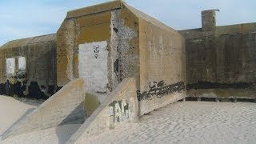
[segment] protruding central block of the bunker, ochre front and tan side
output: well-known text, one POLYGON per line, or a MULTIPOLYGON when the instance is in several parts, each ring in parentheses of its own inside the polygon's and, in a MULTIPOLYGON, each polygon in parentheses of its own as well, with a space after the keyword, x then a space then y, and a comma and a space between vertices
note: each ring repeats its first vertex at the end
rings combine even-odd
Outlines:
POLYGON ((102 103, 124 78, 135 78, 139 114, 186 97, 182 36, 125 2, 68 12, 57 41, 58 86, 83 78, 86 93, 102 103))

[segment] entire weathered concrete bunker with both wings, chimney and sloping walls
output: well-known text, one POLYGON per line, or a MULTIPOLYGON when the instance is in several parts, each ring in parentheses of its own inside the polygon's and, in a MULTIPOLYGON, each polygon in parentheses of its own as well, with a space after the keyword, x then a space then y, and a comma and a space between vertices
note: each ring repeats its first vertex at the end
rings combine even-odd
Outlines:
MULTIPOLYGON (((64 87, 46 102, 56 107, 39 107, 53 110, 41 115, 52 120, 46 119, 46 123, 56 124, 60 121, 55 122, 52 114, 58 110, 63 114, 60 118, 70 114, 66 108, 73 103, 74 94, 79 118, 84 118, 83 103, 80 105, 84 90, 88 93, 87 114, 101 104, 70 138, 71 143, 186 98, 186 91, 199 98, 255 98, 256 24, 216 27, 214 10, 203 11, 202 18, 202 29, 180 31, 186 38, 185 49, 176 30, 125 2, 72 10, 57 39, 50 34, 1 47, 0 94, 49 98, 59 87, 71 86, 67 84, 71 81, 82 82, 72 84, 73 91, 64 87), (61 101, 65 106, 59 108, 55 102, 61 101)), ((24 122, 30 130, 30 122, 24 122)))

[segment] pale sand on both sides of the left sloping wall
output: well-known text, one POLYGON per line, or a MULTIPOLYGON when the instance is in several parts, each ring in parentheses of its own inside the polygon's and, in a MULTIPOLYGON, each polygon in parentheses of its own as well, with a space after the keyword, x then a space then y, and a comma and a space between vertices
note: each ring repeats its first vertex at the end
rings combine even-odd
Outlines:
MULTIPOLYGON (((30 113, 40 103, 38 101, 27 101, 24 99, 16 100, 11 97, 0 95, 0 135, 4 133, 14 122, 18 121, 24 114, 30 113)), ((38 130, 29 134, 21 134, 15 137, 0 140, 0 144, 4 143, 64 143, 81 124, 69 124, 53 127, 46 130, 38 130)))

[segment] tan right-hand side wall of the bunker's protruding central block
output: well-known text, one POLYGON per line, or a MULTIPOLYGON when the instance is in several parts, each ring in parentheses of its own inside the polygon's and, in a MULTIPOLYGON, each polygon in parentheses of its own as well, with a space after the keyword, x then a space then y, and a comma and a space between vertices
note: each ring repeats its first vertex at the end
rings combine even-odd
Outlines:
POLYGON ((142 115, 186 97, 186 52, 177 31, 129 8, 139 18, 138 110, 142 115))

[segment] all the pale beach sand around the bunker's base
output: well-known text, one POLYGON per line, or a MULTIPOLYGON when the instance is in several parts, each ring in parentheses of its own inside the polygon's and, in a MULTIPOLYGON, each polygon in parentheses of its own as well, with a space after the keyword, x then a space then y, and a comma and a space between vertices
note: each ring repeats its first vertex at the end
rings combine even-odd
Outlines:
MULTIPOLYGON (((94 135, 86 143, 256 143, 255 106, 250 102, 176 102, 142 116, 138 122, 94 135)), ((6 118, 0 121, 1 130, 29 107, 12 98, 0 97, 0 114, 6 118)), ((64 143, 79 126, 34 131, 0 143, 64 143)))

